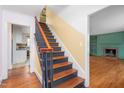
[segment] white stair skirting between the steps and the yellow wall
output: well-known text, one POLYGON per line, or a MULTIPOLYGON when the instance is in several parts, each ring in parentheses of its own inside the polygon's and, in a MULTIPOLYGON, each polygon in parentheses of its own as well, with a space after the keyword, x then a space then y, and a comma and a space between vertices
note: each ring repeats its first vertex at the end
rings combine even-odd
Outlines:
POLYGON ((56 38, 56 41, 59 43, 59 46, 61 46, 62 50, 65 51, 65 55, 69 56, 68 60, 69 60, 69 62, 73 63, 73 68, 78 70, 78 76, 85 79, 84 69, 81 68, 81 66, 78 64, 76 59, 72 56, 71 52, 67 49, 67 47, 64 45, 62 40, 59 38, 59 36, 54 32, 54 29, 52 28, 52 26, 50 26, 49 24, 47 24, 47 25, 48 25, 49 29, 51 30, 52 34, 54 35, 54 37, 56 38))

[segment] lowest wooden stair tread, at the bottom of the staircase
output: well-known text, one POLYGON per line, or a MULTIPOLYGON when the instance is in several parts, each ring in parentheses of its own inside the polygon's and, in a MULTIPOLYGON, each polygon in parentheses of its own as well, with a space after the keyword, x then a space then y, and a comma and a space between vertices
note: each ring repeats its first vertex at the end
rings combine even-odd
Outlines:
POLYGON ((82 79, 80 77, 75 77, 75 78, 72 78, 68 81, 65 81, 65 82, 57 85, 56 88, 74 88, 83 82, 84 82, 84 79, 82 79))

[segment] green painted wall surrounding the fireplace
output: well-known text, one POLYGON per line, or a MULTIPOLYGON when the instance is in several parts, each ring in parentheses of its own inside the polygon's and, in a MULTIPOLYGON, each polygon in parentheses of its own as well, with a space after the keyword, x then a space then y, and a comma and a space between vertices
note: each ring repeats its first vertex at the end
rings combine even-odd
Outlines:
MULTIPOLYGON (((96 40, 96 52, 90 51, 91 54, 95 53, 96 56, 103 56, 103 49, 104 48, 117 48, 118 49, 118 58, 124 59, 124 32, 116 32, 116 33, 109 33, 109 34, 102 34, 97 36, 96 40)), ((93 40, 91 39, 90 47, 94 47, 92 45, 93 40)))

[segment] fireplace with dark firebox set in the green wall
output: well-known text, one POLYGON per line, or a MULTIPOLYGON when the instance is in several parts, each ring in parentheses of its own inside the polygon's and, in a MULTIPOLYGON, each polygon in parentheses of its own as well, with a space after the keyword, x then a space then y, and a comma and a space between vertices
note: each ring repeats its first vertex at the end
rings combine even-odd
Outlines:
POLYGON ((117 56, 117 49, 116 48, 105 48, 104 49, 104 55, 116 57, 117 56))

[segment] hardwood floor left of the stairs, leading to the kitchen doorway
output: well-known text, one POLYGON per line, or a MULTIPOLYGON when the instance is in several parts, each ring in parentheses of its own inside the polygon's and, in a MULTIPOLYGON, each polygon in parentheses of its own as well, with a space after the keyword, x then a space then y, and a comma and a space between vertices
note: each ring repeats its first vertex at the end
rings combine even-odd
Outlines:
POLYGON ((9 71, 9 79, 4 80, 0 88, 41 88, 40 81, 29 67, 20 67, 9 71))

